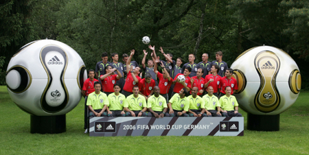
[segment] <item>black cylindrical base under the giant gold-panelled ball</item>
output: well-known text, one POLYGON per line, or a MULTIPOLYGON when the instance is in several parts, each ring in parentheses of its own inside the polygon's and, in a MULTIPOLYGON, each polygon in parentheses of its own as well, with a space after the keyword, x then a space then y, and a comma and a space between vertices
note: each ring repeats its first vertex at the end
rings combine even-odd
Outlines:
POLYGON ((279 131, 280 115, 253 115, 248 113, 247 129, 256 131, 279 131))

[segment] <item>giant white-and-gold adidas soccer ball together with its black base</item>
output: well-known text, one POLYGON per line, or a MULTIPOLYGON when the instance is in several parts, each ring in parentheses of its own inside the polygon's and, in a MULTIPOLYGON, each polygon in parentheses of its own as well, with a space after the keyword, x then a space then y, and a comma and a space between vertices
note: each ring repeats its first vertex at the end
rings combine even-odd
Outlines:
POLYGON ((248 112, 249 130, 279 130, 279 114, 296 101, 301 88, 297 64, 275 47, 253 47, 231 65, 238 81, 235 96, 248 112))

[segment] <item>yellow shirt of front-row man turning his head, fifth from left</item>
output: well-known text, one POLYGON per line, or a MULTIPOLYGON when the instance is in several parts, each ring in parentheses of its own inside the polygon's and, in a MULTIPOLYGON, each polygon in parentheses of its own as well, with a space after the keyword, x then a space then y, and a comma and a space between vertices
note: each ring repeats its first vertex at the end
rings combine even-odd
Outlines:
POLYGON ((178 93, 174 94, 169 102, 172 104, 173 110, 189 110, 189 100, 187 97, 181 99, 178 93))

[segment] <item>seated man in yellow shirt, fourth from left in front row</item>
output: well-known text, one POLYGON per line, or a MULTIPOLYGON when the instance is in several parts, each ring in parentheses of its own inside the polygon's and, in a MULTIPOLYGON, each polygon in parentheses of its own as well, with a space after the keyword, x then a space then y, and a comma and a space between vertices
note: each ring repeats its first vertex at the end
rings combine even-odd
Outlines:
POLYGON ((148 112, 148 117, 154 116, 156 118, 163 118, 168 110, 165 98, 160 95, 159 86, 155 86, 155 95, 148 98, 147 108, 151 112, 148 112))

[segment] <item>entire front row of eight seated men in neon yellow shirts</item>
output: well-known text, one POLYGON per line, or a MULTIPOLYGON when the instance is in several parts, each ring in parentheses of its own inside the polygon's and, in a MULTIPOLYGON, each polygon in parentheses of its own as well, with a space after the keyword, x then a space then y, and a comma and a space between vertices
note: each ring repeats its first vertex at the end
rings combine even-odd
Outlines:
POLYGON ((139 94, 139 87, 133 87, 133 95, 125 97, 119 93, 119 84, 114 84, 114 93, 102 93, 100 82, 94 82, 95 91, 88 95, 89 117, 242 117, 238 112, 236 97, 231 95, 231 87, 225 87, 226 95, 213 95, 214 89, 209 86, 208 94, 198 96, 198 88, 192 88, 188 96, 187 89, 182 88, 172 96, 168 104, 160 95, 159 86, 154 87, 154 95, 148 98, 139 94), (169 110, 168 110, 169 109, 169 110))

